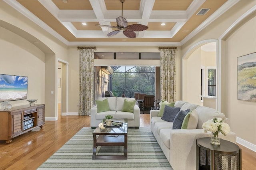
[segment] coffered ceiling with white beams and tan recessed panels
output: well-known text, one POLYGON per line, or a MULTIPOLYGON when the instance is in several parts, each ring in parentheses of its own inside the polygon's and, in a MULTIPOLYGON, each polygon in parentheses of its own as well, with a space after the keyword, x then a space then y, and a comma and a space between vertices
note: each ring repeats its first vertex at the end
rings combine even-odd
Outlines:
POLYGON ((67 45, 182 45, 238 1, 125 0, 128 25, 148 26, 137 38, 127 38, 108 37, 114 28, 95 26, 116 26, 120 0, 4 0, 67 45), (202 10, 207 12, 198 15, 202 10))

